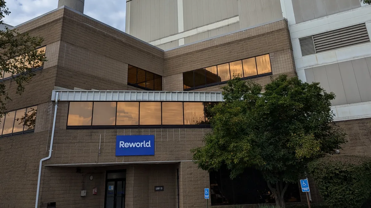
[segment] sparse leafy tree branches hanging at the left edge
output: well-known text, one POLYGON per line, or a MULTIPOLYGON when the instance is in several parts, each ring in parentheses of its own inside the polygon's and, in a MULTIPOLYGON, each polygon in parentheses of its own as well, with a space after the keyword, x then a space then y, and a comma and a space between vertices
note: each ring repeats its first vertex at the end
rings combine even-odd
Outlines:
MULTIPOLYGON (((0 0, 0 24, 3 24, 3 18, 9 14, 6 2, 0 0)), ((24 91, 24 84, 35 75, 32 69, 42 66, 46 61, 45 51, 35 50, 42 42, 43 38, 19 33, 16 29, 6 28, 0 31, 0 78, 12 77, 16 81, 16 93, 19 95, 24 91)), ((0 117, 6 111, 5 101, 11 100, 6 86, 6 81, 0 82, 0 117)))

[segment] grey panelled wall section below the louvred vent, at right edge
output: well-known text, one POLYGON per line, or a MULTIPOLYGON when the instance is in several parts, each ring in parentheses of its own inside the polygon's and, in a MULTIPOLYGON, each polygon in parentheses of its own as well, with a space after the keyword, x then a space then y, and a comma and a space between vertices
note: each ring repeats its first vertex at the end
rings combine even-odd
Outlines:
POLYGON ((319 82, 326 91, 335 93, 333 105, 371 101, 370 74, 371 57, 305 69, 308 83, 319 82))

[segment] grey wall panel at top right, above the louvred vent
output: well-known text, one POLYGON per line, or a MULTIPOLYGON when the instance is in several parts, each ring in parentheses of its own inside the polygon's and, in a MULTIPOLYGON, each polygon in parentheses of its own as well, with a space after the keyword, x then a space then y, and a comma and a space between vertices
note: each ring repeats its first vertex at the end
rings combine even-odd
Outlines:
POLYGON ((361 7, 359 0, 292 0, 295 22, 301 23, 361 7))

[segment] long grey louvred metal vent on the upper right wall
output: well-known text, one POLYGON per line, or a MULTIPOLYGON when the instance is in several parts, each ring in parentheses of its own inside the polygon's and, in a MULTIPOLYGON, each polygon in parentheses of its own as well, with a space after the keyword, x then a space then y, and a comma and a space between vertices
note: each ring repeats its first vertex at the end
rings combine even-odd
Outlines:
POLYGON ((357 24, 310 37, 300 38, 302 56, 308 56, 337 48, 370 43, 366 24, 357 24))

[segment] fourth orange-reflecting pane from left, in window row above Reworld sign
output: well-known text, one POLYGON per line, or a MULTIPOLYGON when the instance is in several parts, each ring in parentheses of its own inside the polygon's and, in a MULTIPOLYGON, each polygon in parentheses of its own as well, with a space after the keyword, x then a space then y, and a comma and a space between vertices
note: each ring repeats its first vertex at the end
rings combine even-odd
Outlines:
POLYGON ((161 103, 141 102, 139 125, 161 125, 161 103))

